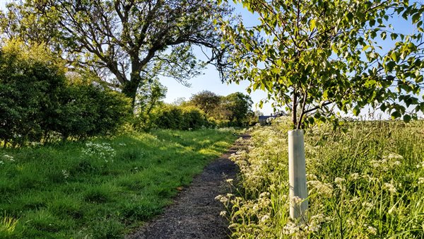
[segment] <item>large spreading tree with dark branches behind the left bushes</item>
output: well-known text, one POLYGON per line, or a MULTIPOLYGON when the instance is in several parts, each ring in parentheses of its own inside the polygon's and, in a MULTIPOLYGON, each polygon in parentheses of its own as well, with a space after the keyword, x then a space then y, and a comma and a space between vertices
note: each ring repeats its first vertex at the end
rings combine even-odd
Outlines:
POLYGON ((48 42, 75 66, 112 74, 103 80, 121 88, 134 107, 138 89, 158 74, 186 83, 207 63, 224 66, 212 19, 228 13, 207 0, 27 0, 9 4, 3 23, 9 37, 48 42), (34 31, 34 23, 49 31, 34 31), (208 60, 196 59, 193 47, 210 49, 208 60))

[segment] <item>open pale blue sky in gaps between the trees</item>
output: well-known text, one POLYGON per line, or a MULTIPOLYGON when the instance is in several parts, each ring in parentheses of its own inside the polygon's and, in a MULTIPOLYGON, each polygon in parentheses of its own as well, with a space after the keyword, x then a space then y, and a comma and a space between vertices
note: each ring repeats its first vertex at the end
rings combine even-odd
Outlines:
MULTIPOLYGON (((4 5, 8 1, 10 0, 0 0, 0 9, 4 8, 4 5)), ((242 6, 234 4, 232 5, 235 6, 235 12, 242 16, 245 25, 254 25, 257 22, 257 17, 246 11, 244 8, 242 8, 242 6)), ((396 32, 398 33, 410 34, 413 32, 412 25, 404 21, 402 18, 394 18, 393 21, 391 21, 391 24, 394 26, 396 32)), ((394 42, 389 40, 389 38, 390 37, 387 37, 387 40, 385 41, 379 41, 379 44, 383 47, 383 51, 387 51, 387 49, 394 45, 394 42)), ((203 55, 200 50, 194 53, 198 54, 199 56, 203 55)), ((185 98, 188 100, 193 94, 204 90, 212 91, 218 95, 228 95, 237 91, 246 93, 245 89, 247 86, 249 86, 248 82, 242 82, 240 85, 236 85, 235 83, 222 83, 220 81, 218 71, 214 66, 208 66, 206 69, 204 69, 203 74, 192 78, 189 81, 191 87, 182 86, 182 84, 178 83, 172 78, 161 77, 160 80, 161 83, 167 87, 167 96, 165 98, 165 102, 167 103, 172 103, 177 98, 185 98)), ((266 98, 266 93, 264 91, 258 90, 252 92, 250 96, 254 103, 258 103, 259 100, 266 98)), ((255 110, 254 105, 252 108, 255 110)), ((271 112, 273 112, 270 104, 264 104, 262 109, 258 110, 264 112, 265 115, 269 115, 271 112)), ((366 112, 367 109, 363 110, 363 115, 365 115, 366 112)))

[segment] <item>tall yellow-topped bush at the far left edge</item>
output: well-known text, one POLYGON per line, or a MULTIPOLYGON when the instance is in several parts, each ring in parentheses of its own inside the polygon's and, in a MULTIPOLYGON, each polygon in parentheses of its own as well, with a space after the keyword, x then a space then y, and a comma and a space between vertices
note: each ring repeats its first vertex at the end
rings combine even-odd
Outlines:
MULTIPOLYGON (((0 50, 0 139, 21 145, 40 141, 65 86, 64 71, 11 42, 0 50)), ((34 51, 40 51, 35 47, 34 51)))

